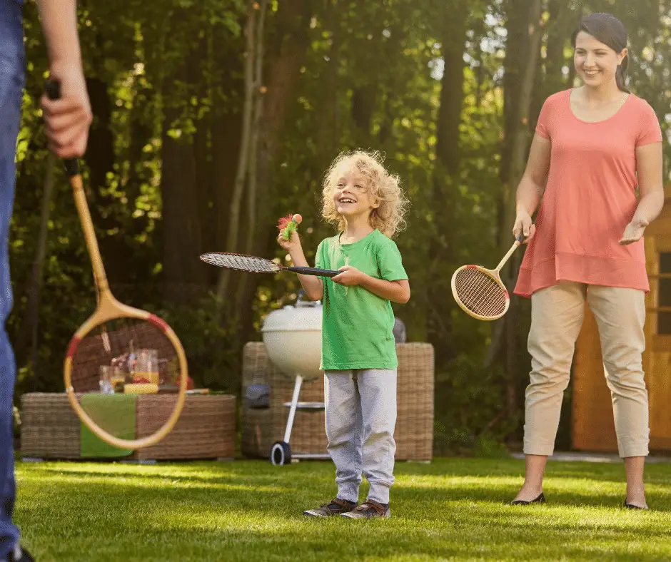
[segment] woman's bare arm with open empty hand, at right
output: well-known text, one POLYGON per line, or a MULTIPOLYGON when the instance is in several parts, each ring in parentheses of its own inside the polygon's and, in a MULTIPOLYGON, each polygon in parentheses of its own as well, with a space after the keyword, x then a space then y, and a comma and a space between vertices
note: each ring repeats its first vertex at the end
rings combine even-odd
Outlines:
POLYGON ((640 200, 631 222, 625 228, 620 245, 640 240, 645 227, 652 223, 664 206, 662 143, 650 143, 636 149, 636 172, 640 200))

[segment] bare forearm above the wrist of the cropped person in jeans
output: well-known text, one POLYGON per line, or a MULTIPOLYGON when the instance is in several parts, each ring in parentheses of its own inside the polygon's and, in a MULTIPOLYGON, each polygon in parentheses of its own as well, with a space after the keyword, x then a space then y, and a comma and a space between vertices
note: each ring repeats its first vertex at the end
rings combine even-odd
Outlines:
POLYGON ((49 64, 81 66, 76 0, 37 0, 49 64))

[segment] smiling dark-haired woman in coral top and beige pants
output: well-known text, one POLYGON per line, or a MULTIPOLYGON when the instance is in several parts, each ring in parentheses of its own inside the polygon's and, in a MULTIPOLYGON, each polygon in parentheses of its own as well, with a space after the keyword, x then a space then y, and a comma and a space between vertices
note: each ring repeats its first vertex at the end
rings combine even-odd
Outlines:
POLYGON ((650 287, 642 235, 664 204, 662 133, 652 108, 625 88, 622 23, 610 14, 585 16, 572 43, 584 83, 545 101, 517 190, 513 235, 524 233, 529 245, 515 293, 531 298, 532 370, 525 482, 513 504, 545 502, 545 463, 553 454, 586 300, 599 327, 625 462, 625 506, 647 509, 643 468, 650 431, 642 352, 650 287))

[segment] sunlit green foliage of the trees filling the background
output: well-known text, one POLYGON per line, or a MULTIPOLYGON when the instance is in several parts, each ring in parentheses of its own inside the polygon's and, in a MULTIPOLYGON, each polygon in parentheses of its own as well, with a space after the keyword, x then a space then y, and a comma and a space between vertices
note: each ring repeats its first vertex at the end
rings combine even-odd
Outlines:
MULTIPOLYGON (((271 2, 260 85, 266 87, 267 111, 260 148, 266 150, 272 136, 279 148, 269 164, 268 185, 258 186, 256 222, 246 220, 245 201, 238 237, 242 252, 242 240, 253 230, 260 240, 255 251, 288 263, 276 244, 274 224, 282 215, 301 213, 298 230, 313 262, 318 243, 333 233, 320 218, 324 171, 340 150, 383 151, 412 203, 408 229, 396 240, 413 296, 395 313, 407 325, 410 340, 432 342, 436 349, 437 446, 485 456, 494 454, 495 441, 520 434, 521 412, 502 413, 510 384, 521 403, 528 354, 521 344, 513 383, 505 378, 500 358, 481 367, 493 325, 476 322, 454 306, 450 277, 463 263, 495 265, 499 238, 508 236, 500 216, 501 172, 510 148, 505 109, 510 111, 516 93, 506 91, 504 77, 506 70, 519 74, 522 63, 504 57, 508 41, 515 40, 509 32, 516 5, 469 0, 465 34, 460 34, 453 29, 461 6, 457 0, 271 2), (304 52, 298 47, 302 34, 307 34, 304 52), (441 83, 450 52, 463 52, 463 72, 453 71, 441 83), (285 99, 282 88, 292 78, 296 88, 287 90, 291 98, 285 99), (268 90, 273 84, 276 89, 268 90), (453 88, 450 95, 463 93, 456 124, 458 170, 450 174, 436 153, 439 139, 450 132, 438 125, 443 85, 453 88), (284 106, 286 119, 275 123, 273 112, 284 106)), ((231 311, 251 277, 231 277, 233 288, 221 303, 204 296, 214 292, 218 271, 197 269, 203 267, 198 253, 223 250, 226 243, 220 231, 228 223, 238 162, 249 6, 246 0, 79 5, 81 49, 96 110, 84 183, 111 285, 120 300, 166 316, 187 349, 196 384, 231 392, 239 387, 241 346, 258 339, 263 317, 293 302, 300 288, 295 275, 254 278, 258 284, 251 290, 251 304, 236 316, 231 311), (176 159, 184 178, 163 175, 167 144, 173 145, 169 158, 176 159), (178 188, 168 190, 170 180, 180 182, 178 188), (184 215, 191 213, 187 203, 196 200, 196 212, 171 223, 175 219, 164 211, 166 201, 175 200, 173 208, 184 215), (189 242, 178 250, 181 267, 171 270, 178 278, 168 279, 166 269, 176 250, 166 240, 175 231, 189 242), (185 295, 195 286, 197 297, 174 297, 171 284, 185 295), (222 304, 223 321, 215 312, 222 304)), ((529 134, 545 96, 570 86, 568 37, 583 9, 612 11, 624 21, 630 30, 630 85, 655 108, 668 134, 671 3, 631 6, 624 0, 560 0, 548 7, 529 134), (550 76, 551 62, 557 62, 548 58, 553 29, 560 30, 552 31, 560 37, 560 76, 550 76)), ((64 350, 95 306, 89 256, 59 166, 42 268, 38 362, 31 363, 26 287, 48 162, 39 108, 48 64, 35 3, 27 3, 24 13, 28 72, 10 240, 15 306, 8 323, 12 341, 24 342, 16 349, 19 394, 62 389, 64 350)), ((664 150, 668 170, 671 145, 665 143, 664 150)), ((520 334, 527 328, 524 304, 520 334)), ((568 441, 567 413, 562 414, 562 442, 568 441)))

